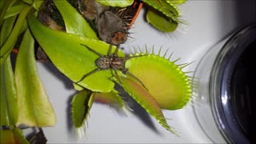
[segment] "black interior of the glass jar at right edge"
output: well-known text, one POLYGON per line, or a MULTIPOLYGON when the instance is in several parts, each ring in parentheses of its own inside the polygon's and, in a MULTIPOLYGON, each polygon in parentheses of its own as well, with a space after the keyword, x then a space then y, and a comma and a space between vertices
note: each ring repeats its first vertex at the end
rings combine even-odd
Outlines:
POLYGON ((238 59, 231 75, 230 101, 239 127, 256 143, 256 41, 238 59))

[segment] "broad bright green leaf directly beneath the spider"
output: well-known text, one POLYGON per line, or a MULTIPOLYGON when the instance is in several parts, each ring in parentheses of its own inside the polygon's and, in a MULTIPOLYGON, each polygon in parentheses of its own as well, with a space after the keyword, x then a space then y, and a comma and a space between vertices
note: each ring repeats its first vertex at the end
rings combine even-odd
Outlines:
MULTIPOLYGON (((109 50, 106 42, 79 37, 74 34, 67 34, 58 30, 51 30, 38 22, 34 15, 30 15, 28 23, 31 32, 37 39, 42 49, 45 50, 54 66, 73 82, 78 82, 85 74, 95 70, 97 66, 95 61, 98 55, 88 50, 84 44, 101 54, 107 54, 109 50)), ((113 52, 115 47, 113 49, 113 52)), ((121 51, 118 53, 122 54, 121 51)), ((112 77, 110 70, 101 70, 84 78, 78 84, 86 89, 98 92, 110 92, 114 89, 114 82, 109 78, 112 77)))

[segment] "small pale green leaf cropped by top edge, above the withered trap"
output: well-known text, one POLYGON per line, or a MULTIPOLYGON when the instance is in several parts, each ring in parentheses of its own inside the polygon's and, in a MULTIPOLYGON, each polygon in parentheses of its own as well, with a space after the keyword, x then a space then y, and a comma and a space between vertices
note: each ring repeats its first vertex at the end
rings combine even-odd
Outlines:
POLYGON ((134 0, 96 0, 96 2, 101 3, 105 6, 113 6, 113 7, 126 7, 133 4, 134 0))

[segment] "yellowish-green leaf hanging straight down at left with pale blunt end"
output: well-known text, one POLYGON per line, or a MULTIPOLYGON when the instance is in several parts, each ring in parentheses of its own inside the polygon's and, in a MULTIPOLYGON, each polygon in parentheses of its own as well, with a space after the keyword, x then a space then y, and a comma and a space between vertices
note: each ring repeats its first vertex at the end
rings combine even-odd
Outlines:
POLYGON ((54 126, 54 110, 38 77, 34 58, 34 38, 29 30, 24 34, 18 52, 15 80, 18 94, 18 125, 54 126))

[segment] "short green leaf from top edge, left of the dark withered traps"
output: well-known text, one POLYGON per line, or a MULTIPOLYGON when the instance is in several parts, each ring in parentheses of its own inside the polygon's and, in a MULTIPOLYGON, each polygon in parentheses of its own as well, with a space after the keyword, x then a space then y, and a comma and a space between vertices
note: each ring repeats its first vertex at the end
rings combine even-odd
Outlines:
POLYGON ((90 28, 90 25, 82 15, 79 14, 69 2, 66 0, 54 0, 54 3, 62 14, 67 33, 77 34, 86 38, 98 39, 94 30, 90 28))

